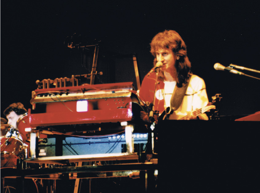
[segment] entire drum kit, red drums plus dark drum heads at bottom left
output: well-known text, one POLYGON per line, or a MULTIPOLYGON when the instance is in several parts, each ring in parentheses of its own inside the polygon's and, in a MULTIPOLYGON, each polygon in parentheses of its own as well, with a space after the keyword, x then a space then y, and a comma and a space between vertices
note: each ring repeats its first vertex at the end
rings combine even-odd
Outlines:
MULTIPOLYGON (((3 170, 5 168, 16 168, 17 159, 27 158, 28 148, 30 147, 27 113, 18 119, 16 129, 6 124, 6 122, 7 120, 1 117, 1 169, 3 170)), ((4 178, 3 184, 1 184, 1 186, 3 185, 1 192, 3 190, 3 192, 15 193, 17 188, 21 188, 13 177, 4 178)), ((23 192, 43 192, 40 182, 39 179, 24 179, 23 192)))

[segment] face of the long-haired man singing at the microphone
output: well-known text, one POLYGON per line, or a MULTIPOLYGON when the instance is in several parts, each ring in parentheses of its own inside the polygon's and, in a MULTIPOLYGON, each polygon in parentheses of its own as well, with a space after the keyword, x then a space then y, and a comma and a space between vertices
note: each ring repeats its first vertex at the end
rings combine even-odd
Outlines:
POLYGON ((162 48, 156 50, 156 59, 157 62, 162 62, 163 67, 161 70, 171 72, 176 71, 175 69, 175 61, 177 59, 177 55, 173 53, 173 51, 169 48, 162 48))

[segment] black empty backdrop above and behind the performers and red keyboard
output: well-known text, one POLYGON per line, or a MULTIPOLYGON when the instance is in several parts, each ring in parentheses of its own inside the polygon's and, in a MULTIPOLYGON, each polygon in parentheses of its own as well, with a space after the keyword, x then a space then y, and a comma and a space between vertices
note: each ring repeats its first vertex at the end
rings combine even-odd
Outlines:
POLYGON ((2 1, 1 13, 1 117, 14 102, 31 108, 36 80, 89 73, 81 50, 67 47, 74 33, 74 44, 101 41, 102 82, 130 81, 136 88, 131 55, 142 81, 152 68, 149 43, 165 29, 182 36, 209 100, 223 97, 221 116, 260 111, 259 80, 213 68, 219 62, 260 70, 257 1, 2 1))

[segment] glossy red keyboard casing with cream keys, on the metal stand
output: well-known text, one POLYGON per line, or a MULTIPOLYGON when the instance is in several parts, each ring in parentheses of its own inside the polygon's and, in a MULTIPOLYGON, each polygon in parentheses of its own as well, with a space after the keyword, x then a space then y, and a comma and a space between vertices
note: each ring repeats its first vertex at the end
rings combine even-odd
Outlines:
MULTIPOLYGON (((131 121, 132 82, 36 89, 28 110, 31 127, 131 121), (44 104, 44 107, 39 107, 44 104), (39 109, 41 110, 39 111, 39 109)), ((135 95, 136 96, 136 95, 135 95)))

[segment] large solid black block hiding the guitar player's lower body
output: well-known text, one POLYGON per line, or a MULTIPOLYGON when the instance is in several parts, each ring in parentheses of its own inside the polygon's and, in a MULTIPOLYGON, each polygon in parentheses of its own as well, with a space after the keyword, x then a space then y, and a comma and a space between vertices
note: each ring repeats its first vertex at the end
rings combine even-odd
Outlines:
POLYGON ((259 192, 260 130, 250 121, 229 125, 228 120, 159 125, 158 192, 259 192))

